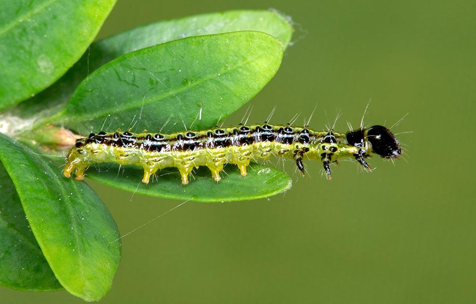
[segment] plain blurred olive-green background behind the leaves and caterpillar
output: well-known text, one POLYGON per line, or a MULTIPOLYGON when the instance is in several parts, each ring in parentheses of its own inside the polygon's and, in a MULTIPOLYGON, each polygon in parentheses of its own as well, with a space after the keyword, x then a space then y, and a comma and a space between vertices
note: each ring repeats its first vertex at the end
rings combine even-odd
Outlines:
MULTIPOLYGON (((293 162, 291 191, 269 200, 185 203, 122 239, 102 303, 475 303, 476 3, 468 1, 119 0, 98 38, 187 15, 273 7, 296 32, 250 122, 301 113, 324 129, 392 126, 404 157, 293 162), (472 131, 473 130, 473 131, 472 131), (406 133, 413 132, 413 133, 406 133), (473 185, 473 186, 472 186, 473 185)), ((225 122, 236 124, 245 109, 225 122)), ((282 167, 273 160, 271 165, 282 167)), ((121 234, 178 201, 97 189, 121 234)), ((67 292, 0 287, 0 303, 83 303, 67 292)))

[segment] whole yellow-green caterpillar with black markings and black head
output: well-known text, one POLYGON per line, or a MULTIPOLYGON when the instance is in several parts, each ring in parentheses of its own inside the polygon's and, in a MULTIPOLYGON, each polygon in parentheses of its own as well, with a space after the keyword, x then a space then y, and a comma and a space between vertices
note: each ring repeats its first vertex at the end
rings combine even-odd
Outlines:
POLYGON ((142 182, 147 184, 157 170, 177 167, 186 185, 195 167, 207 166, 219 181, 227 163, 238 165, 245 176, 250 161, 274 155, 294 159, 302 175, 304 159, 321 161, 330 179, 330 164, 345 157, 371 171, 365 158, 372 153, 399 158, 402 149, 392 132, 380 125, 347 133, 268 123, 171 134, 101 131, 76 141, 66 156, 63 174, 69 178, 75 171, 76 179, 83 180, 86 168, 95 163, 132 164, 144 169, 142 182))

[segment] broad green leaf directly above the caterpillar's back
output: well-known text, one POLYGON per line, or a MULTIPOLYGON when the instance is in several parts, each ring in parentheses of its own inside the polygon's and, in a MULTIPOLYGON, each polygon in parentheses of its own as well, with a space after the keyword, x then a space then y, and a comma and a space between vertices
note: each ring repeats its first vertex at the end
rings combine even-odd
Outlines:
MULTIPOLYGON (((82 134, 132 124, 158 131, 169 118, 207 128, 261 91, 282 56, 283 45, 262 32, 189 37, 134 51, 85 79, 49 122, 82 134)), ((183 128, 169 124, 162 131, 183 128)))

